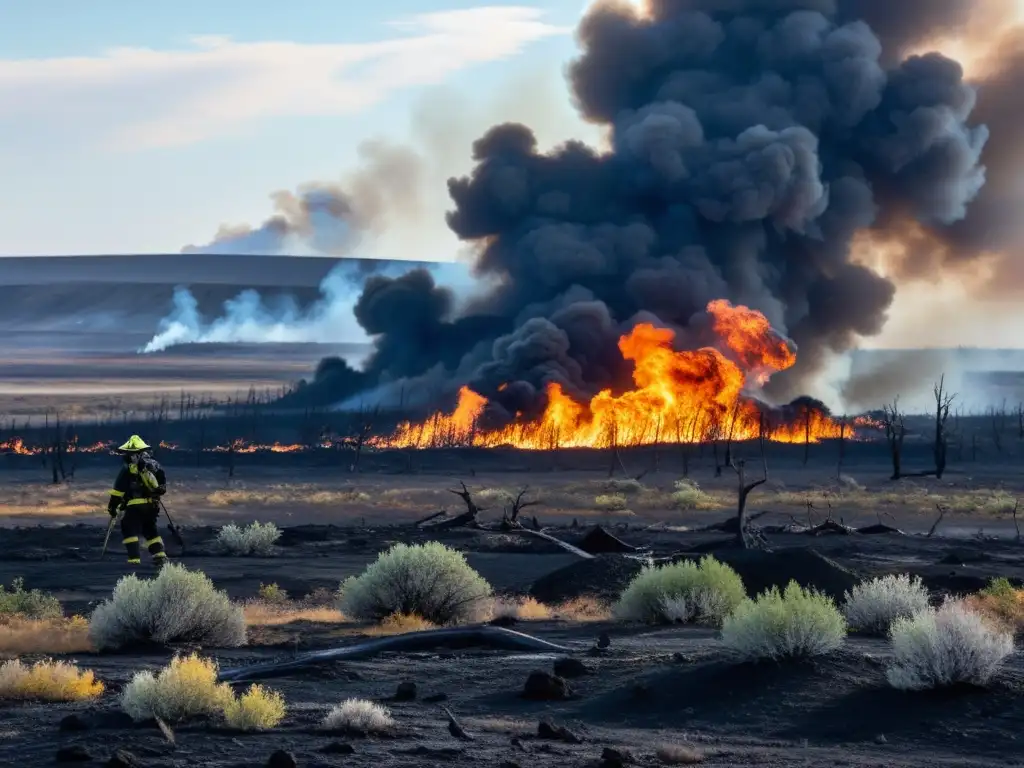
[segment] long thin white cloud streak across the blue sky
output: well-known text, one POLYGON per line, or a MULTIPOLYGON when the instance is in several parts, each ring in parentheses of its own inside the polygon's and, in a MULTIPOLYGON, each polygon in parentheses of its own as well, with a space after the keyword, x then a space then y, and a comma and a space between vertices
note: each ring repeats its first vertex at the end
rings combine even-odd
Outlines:
POLYGON ((397 19, 390 37, 368 43, 205 35, 175 50, 0 58, 0 129, 10 135, 39 121, 49 133, 56 123, 70 137, 150 148, 234 135, 268 118, 352 114, 570 32, 543 16, 532 7, 488 6, 397 19))

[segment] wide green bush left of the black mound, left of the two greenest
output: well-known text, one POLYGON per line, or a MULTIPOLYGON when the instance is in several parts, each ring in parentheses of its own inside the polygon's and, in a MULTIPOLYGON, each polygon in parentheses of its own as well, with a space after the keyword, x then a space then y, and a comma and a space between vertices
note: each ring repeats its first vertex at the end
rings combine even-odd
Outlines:
POLYGON ((746 597, 735 570, 713 557, 644 568, 612 606, 622 620, 719 625, 746 597))

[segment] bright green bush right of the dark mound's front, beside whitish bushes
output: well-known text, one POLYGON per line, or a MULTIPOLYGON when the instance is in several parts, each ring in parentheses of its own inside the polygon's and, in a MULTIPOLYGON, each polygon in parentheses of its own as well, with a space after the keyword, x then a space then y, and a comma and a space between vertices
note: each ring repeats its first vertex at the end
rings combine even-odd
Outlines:
POLYGON ((846 620, 827 595, 790 582, 745 599, 722 624, 722 643, 740 660, 799 658, 836 650, 846 620))

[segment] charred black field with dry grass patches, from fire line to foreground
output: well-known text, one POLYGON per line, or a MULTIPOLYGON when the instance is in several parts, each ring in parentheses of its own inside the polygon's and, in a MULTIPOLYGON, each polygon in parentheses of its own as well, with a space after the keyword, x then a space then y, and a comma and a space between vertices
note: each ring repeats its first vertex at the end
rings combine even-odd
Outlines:
MULTIPOLYGON (((27 642, 10 624, 7 655, 26 664, 74 659, 105 691, 86 701, 5 702, 0 757, 46 765, 62 750, 66 758, 88 754, 102 763, 125 750, 140 765, 288 765, 267 762, 280 750, 298 765, 1019 765, 1019 653, 983 688, 910 692, 887 682, 893 650, 884 637, 852 633, 831 652, 752 664, 737 662, 714 626, 612 615, 611 604, 643 567, 638 555, 666 563, 712 554, 752 596, 796 580, 840 603, 858 582, 886 573, 920 577, 935 603, 976 594, 994 578, 1022 584, 1013 508, 1024 484, 1013 462, 977 472, 954 466, 941 481, 892 481, 886 444, 865 443, 847 453, 839 481, 837 446, 812 447, 816 461, 804 465, 802 446, 767 446, 769 480, 749 497, 750 524, 767 549, 737 546, 736 473, 726 467, 716 476, 710 446, 702 458, 693 446, 688 486, 678 482, 678 454, 663 456, 659 469, 639 480, 621 471, 609 478, 606 451, 571 459, 520 452, 500 462, 486 451, 422 452, 423 469, 412 474, 401 471, 400 456, 396 469, 373 471, 386 457, 371 454, 354 474, 302 466, 294 456, 248 464, 241 457, 231 478, 224 467, 169 460, 168 502, 186 541, 182 555, 168 537, 172 558, 244 607, 245 645, 97 652, 79 628, 43 652, 56 642, 52 632, 27 642), (542 459, 556 471, 532 464, 542 459), (468 505, 451 493, 462 492, 462 482, 481 509, 463 520, 468 525, 459 519, 468 505), (680 495, 684 487, 695 492, 680 495), (536 503, 510 524, 523 489, 520 501, 536 503), (949 511, 936 525, 937 505, 949 511), (527 532, 535 519, 583 553, 527 532), (280 526, 272 548, 225 553, 219 529, 253 521, 280 526), (821 526, 817 536, 801 527, 811 525, 821 526), (598 526, 609 536, 596 535, 598 526), (466 632, 455 639, 434 639, 425 622, 362 621, 338 610, 334 593, 345 579, 395 544, 429 542, 464 553, 493 587, 490 615, 461 625, 466 632), (508 632, 537 646, 527 638, 518 647, 520 636, 508 632), (381 641, 398 646, 301 664, 307 653, 381 641), (132 677, 193 650, 216 659, 225 678, 233 672, 239 692, 254 681, 278 691, 288 707, 284 720, 243 732, 216 717, 186 718, 168 724, 173 741, 152 722, 133 723, 119 698, 132 677), (261 665, 281 663, 292 668, 263 679, 261 665), (324 730, 325 715, 348 698, 388 708, 393 722, 380 733, 324 730), (449 713, 458 723, 451 730, 449 713)), ((734 450, 757 479, 756 442, 734 450)), ((922 464, 928 455, 908 451, 922 464)), ((621 459, 632 469, 651 457, 624 451, 621 459)), ((103 527, 91 513, 109 470, 97 458, 58 486, 38 466, 4 472, 0 502, 13 516, 0 536, 0 582, 24 579, 26 589, 53 594, 66 615, 89 616, 111 597, 126 566, 117 547, 97 559, 103 527)))

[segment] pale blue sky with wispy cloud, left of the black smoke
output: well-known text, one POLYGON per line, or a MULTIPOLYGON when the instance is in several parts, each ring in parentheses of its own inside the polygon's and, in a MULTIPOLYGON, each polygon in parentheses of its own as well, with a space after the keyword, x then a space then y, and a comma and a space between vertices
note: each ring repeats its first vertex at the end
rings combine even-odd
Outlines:
MULTIPOLYGON (((0 0, 0 254, 203 244, 258 225, 275 190, 343 183, 375 138, 429 159, 423 217, 439 218, 487 125, 594 137, 561 74, 583 6, 0 0), (444 146, 417 134, 424 113, 460 116, 444 146)), ((453 258, 430 226, 427 253, 391 233, 366 255, 453 258)))

